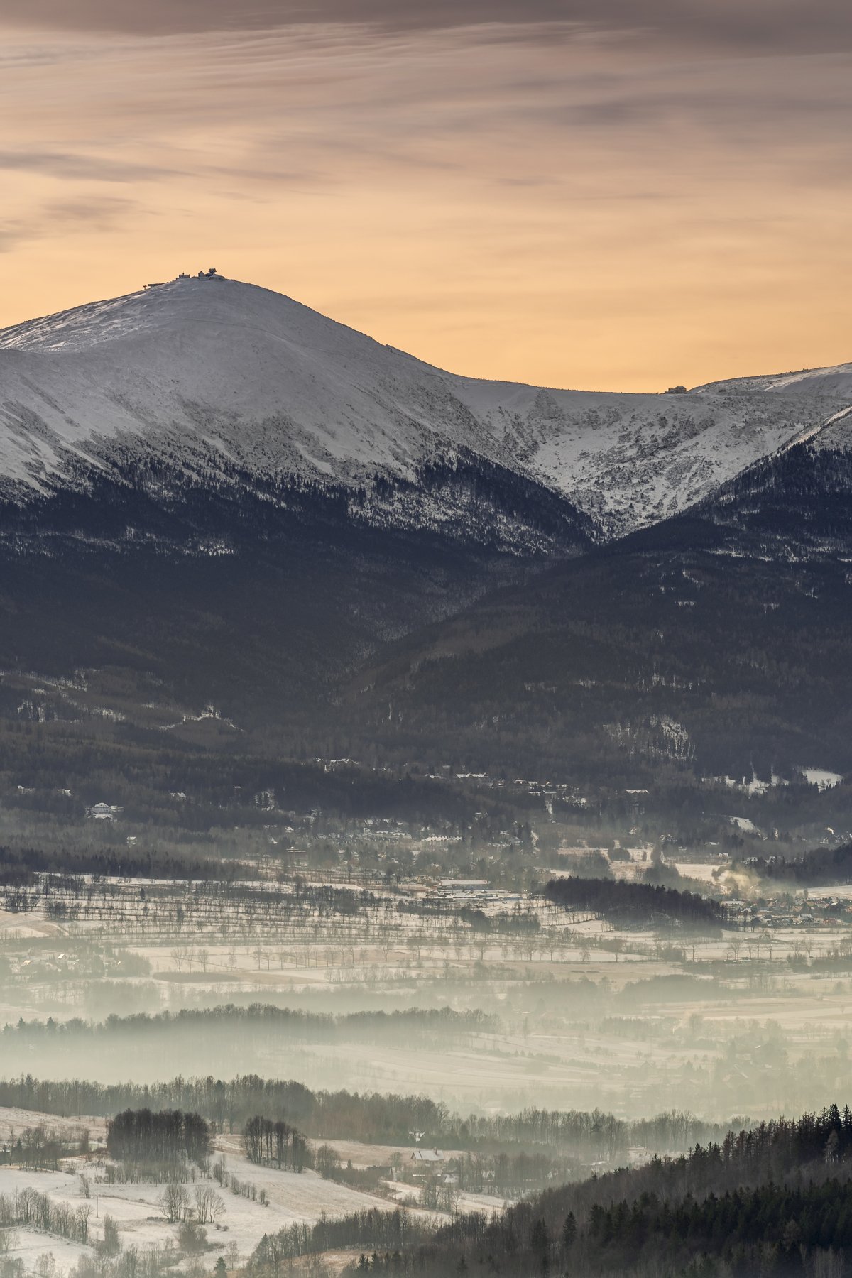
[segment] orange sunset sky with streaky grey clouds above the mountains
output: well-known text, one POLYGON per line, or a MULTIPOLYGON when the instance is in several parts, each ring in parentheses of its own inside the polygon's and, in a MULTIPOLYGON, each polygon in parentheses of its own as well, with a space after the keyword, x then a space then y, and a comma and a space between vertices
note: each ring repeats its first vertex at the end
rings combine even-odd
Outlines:
POLYGON ((852 359, 848 0, 0 0, 0 326, 179 271, 471 376, 852 359))

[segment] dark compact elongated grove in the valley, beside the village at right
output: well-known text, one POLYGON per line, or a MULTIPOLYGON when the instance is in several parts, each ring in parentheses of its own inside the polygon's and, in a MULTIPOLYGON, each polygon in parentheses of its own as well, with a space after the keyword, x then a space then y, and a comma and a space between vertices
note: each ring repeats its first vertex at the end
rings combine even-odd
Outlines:
POLYGON ((645 924, 660 918, 683 925, 726 921, 726 910, 718 901, 651 883, 623 883, 598 878, 551 879, 544 896, 566 910, 593 910, 605 918, 628 919, 645 924))

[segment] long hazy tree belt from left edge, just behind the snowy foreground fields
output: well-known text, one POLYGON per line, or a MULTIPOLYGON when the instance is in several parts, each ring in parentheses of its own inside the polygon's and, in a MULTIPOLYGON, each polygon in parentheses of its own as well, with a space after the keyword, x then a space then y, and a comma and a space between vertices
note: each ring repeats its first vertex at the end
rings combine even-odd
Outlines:
MULTIPOLYGON (((142 1085, 88 1080, 38 1080, 32 1075, 0 1080, 0 1105, 55 1114, 114 1114, 123 1108, 180 1108, 202 1114, 221 1131, 240 1131, 255 1114, 281 1120, 312 1139, 411 1143, 423 1132, 429 1145, 484 1150, 548 1148, 588 1158, 616 1158, 634 1145, 681 1151, 699 1141, 722 1140, 726 1123, 668 1111, 626 1121, 600 1109, 539 1109, 515 1114, 459 1114, 442 1102, 396 1093, 312 1091, 295 1080, 240 1075, 225 1082, 212 1076, 142 1085)), ((738 1118, 737 1123, 743 1125, 738 1118)))

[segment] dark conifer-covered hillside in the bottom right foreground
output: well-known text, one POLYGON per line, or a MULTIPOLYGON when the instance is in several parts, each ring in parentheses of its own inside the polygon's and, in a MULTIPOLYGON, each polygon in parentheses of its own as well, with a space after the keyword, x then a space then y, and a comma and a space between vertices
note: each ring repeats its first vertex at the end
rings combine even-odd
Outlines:
POLYGON ((409 1249, 401 1272, 445 1278, 485 1263, 501 1278, 554 1266, 839 1278, 837 1255, 852 1255, 849 1154, 848 1107, 763 1122, 680 1158, 547 1189, 502 1215, 461 1214, 409 1249))

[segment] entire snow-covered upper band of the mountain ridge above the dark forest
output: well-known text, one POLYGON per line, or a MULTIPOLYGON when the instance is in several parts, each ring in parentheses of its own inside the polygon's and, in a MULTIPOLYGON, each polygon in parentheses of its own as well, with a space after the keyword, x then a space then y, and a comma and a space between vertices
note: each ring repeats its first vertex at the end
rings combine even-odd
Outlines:
POLYGON ((687 395, 483 382, 270 290, 192 277, 0 332, 0 479, 51 488, 144 446, 189 470, 218 458, 354 486, 416 481, 424 463, 464 454, 618 533, 705 497, 849 403, 852 366, 687 395))

